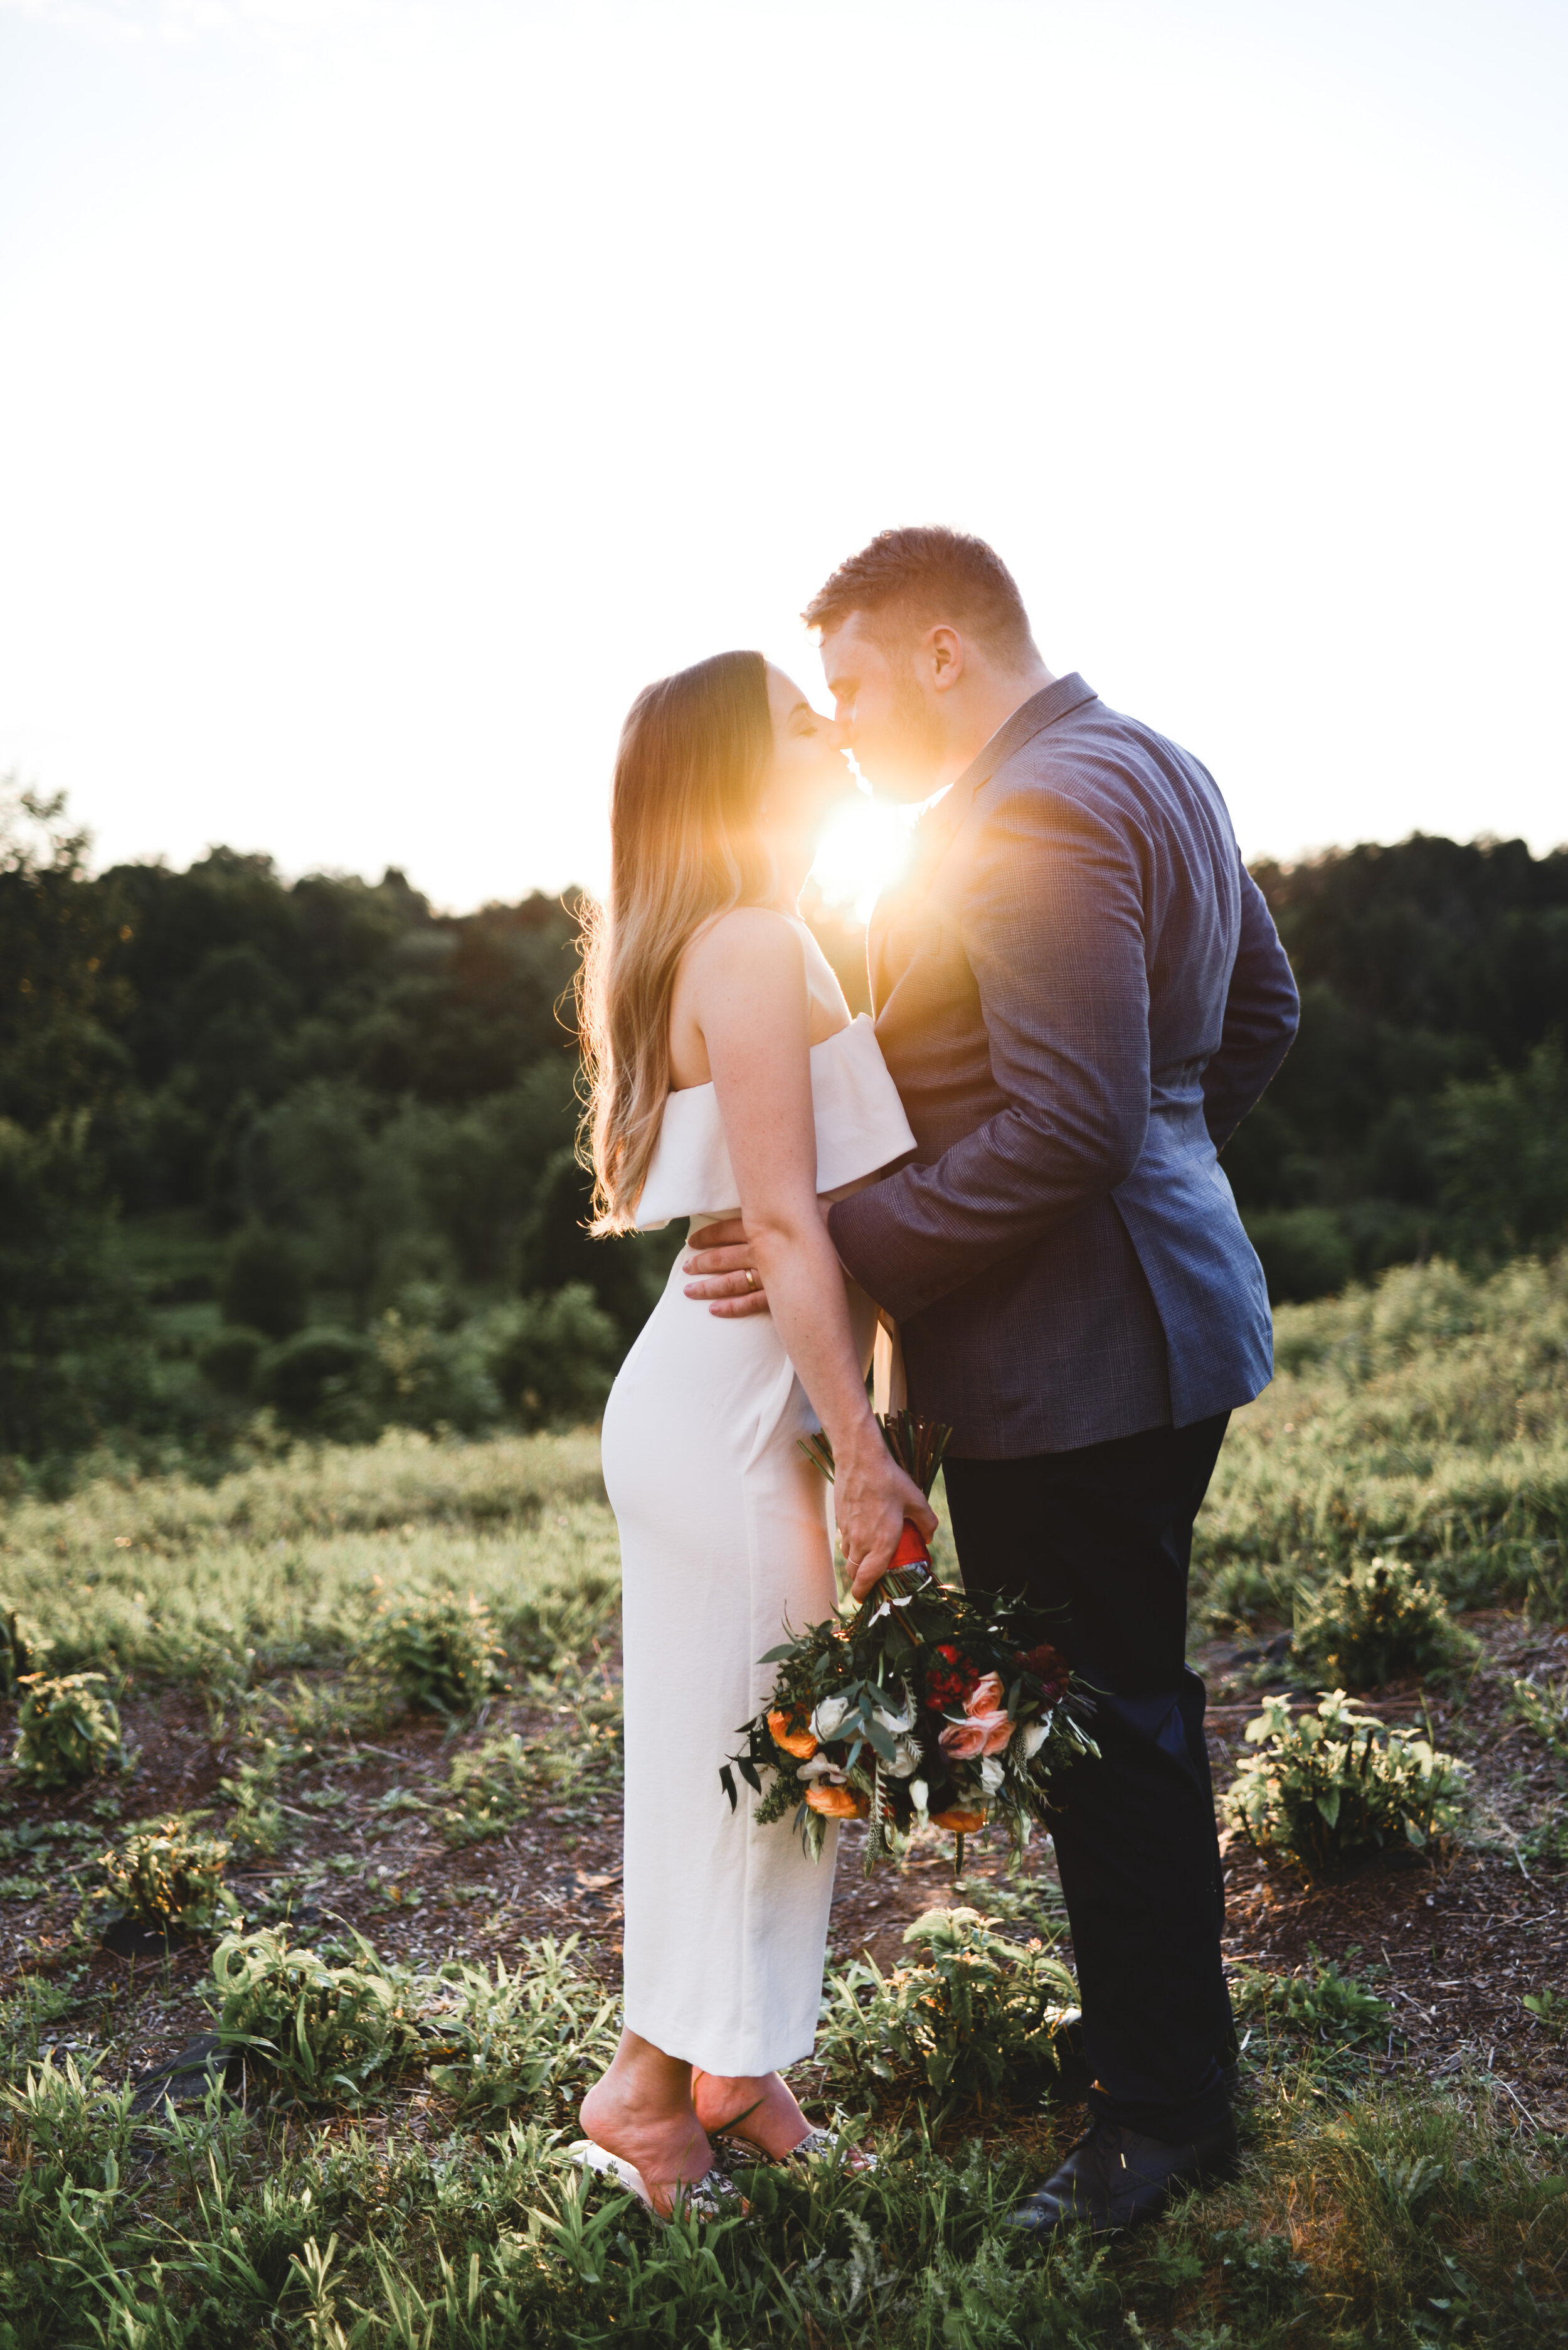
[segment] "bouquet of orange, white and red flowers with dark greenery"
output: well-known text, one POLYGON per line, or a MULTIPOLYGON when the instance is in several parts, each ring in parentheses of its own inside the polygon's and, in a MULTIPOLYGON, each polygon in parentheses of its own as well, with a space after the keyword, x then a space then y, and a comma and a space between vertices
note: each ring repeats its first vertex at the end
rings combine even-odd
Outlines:
MULTIPOLYGON (((951 1431, 913 1412, 880 1426, 930 1492, 951 1431)), ((800 1450, 833 1476, 826 1436, 800 1450)), ((906 1520, 866 1600, 761 1659, 779 1671, 770 1706, 742 1723, 746 1744, 718 1772, 730 1810, 739 1772, 763 1798, 758 1824, 793 1810, 812 1859, 829 1819, 869 1819, 866 1875, 927 1819, 958 1835, 960 1871, 965 1835, 993 1824, 1021 1852, 1030 1824, 1049 1817, 1054 1779, 1099 1755, 1084 1727, 1089 1690, 1038 1631, 1021 1600, 981 1605, 937 1582, 906 1520), (765 1770, 777 1774, 768 1788, 765 1770)))

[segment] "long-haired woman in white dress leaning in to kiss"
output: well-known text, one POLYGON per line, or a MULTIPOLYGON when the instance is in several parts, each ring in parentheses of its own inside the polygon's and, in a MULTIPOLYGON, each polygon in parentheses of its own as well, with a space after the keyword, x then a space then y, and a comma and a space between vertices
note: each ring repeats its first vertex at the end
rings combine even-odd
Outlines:
MULTIPOLYGON (((648 686, 610 801, 610 898, 589 940, 596 1231, 739 1208, 770 1316, 707 1307, 681 1260, 603 1419, 622 1549, 627 1824, 624 2016, 582 2103, 582 2157, 667 2214, 709 2207, 709 2131, 761 2155, 819 2143, 779 2068, 810 2056, 833 1847, 758 1828, 718 1765, 768 1697, 758 1659, 833 1607, 829 1502, 857 1593, 904 1518, 934 1513, 866 1403, 876 1314, 822 1201, 908 1156, 871 1022, 796 912, 829 804, 838 728, 761 653, 648 686), (798 1438, 824 1426, 824 1485, 798 1438), (707 2188, 707 2195, 704 2195, 707 2188)), ((829 1828, 836 1838, 836 1828, 829 1828)))

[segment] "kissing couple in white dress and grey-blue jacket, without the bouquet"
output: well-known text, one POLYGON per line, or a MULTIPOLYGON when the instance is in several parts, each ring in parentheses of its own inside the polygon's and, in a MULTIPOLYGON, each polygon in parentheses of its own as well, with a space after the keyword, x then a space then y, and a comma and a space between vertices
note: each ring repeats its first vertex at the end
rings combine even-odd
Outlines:
MULTIPOLYGON (((723 2207, 711 2134, 831 2153, 812 2052, 831 1901, 716 1760, 782 1626, 854 1596, 925 1497, 866 1401, 878 1316, 948 1422, 976 1593, 1054 1610, 1099 1762, 1054 1819, 1091 2127, 1014 2214, 1129 2225, 1235 2157, 1223 1878, 1192 1520, 1270 1377, 1263 1271, 1216 1152, 1296 987, 1209 771, 1054 677, 976 538, 885 531, 805 611, 833 719, 761 653, 648 686, 622 733, 589 942, 599 1231, 690 1220, 603 1422, 624 1574, 624 2019, 584 2160, 655 2211, 723 2207), (843 752, 944 797, 871 921, 852 1020, 796 909, 843 752), (798 1450, 822 1426, 836 1480, 798 1450)), ((831 1828, 829 1835, 836 1831, 831 1828)))

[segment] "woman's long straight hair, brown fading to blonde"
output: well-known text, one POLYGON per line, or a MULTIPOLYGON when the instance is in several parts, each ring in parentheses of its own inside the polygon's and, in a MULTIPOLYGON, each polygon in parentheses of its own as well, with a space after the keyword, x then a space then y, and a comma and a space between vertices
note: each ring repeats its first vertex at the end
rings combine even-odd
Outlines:
POLYGON ((577 982, 594 1236, 631 1229, 660 1142, 683 947, 714 914, 775 893, 758 834, 770 757, 761 653, 714 653, 643 686, 627 712, 610 792, 610 895, 584 916, 577 982))

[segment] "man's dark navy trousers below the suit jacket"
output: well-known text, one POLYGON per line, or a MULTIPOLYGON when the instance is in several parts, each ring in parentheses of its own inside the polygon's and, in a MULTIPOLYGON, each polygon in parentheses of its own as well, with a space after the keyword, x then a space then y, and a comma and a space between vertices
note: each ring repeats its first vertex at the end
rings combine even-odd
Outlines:
POLYGON ((1192 1520, 1228 1417, 946 1462, 965 1589, 1054 1610, 1047 1638, 1101 1692, 1101 1760, 1073 1770, 1052 1824, 1089 2103, 1169 2141, 1225 2117, 1235 2054, 1204 1685, 1185 1664, 1192 1520))

